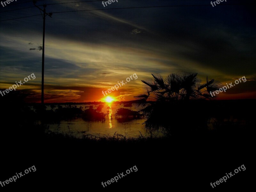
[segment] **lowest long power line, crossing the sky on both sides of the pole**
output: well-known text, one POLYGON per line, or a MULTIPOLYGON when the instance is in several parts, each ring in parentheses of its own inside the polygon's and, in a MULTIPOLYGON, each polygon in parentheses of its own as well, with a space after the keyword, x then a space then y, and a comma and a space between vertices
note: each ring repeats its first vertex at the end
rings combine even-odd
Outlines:
MULTIPOLYGON (((220 5, 246 5, 246 4, 220 4, 220 5)), ((248 4, 251 5, 251 4, 248 4)), ((210 5, 165 5, 165 6, 149 6, 149 7, 123 7, 123 8, 109 8, 109 9, 89 9, 89 10, 78 10, 78 11, 63 11, 63 12, 52 12, 52 13, 66 13, 66 12, 80 12, 80 11, 99 11, 99 10, 114 10, 114 9, 136 9, 136 8, 160 8, 160 7, 191 7, 191 6, 212 6, 210 5)), ((41 15, 41 14, 39 14, 41 15)), ((27 18, 27 17, 34 17, 38 15, 31 15, 26 17, 19 17, 19 18, 13 18, 13 19, 6 19, 6 20, 0 20, 0 21, 7 21, 7 20, 14 20, 14 19, 21 19, 21 18, 27 18)))

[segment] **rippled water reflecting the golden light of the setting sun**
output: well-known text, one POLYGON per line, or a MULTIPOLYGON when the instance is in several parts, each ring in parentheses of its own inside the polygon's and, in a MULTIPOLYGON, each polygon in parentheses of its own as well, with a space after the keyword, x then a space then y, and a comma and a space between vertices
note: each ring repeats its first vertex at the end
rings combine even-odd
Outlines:
MULTIPOLYGON (((74 106, 74 105, 73 105, 74 106)), ((88 109, 90 106, 93 106, 93 109, 97 109, 99 105, 76 105, 77 108, 82 107, 82 110, 88 109)), ((63 105, 64 107, 64 105, 63 105)), ((144 125, 142 124, 145 119, 132 119, 131 121, 120 122, 116 119, 115 113, 118 108, 128 108, 133 111, 136 111, 134 106, 132 107, 124 107, 124 104, 113 104, 113 103, 105 103, 104 107, 100 112, 106 114, 105 121, 85 121, 81 118, 77 118, 75 120, 60 121, 59 124, 48 124, 49 129, 52 132, 59 133, 68 133, 72 134, 76 137, 82 137, 83 134, 91 134, 93 136, 99 135, 109 135, 113 136, 116 134, 121 134, 126 137, 138 137, 140 132, 143 136, 148 137, 150 133, 144 129, 144 125)), ((47 109, 51 109, 50 106, 47 106, 47 109)), ((55 109, 55 108, 53 108, 55 109)), ((154 135, 157 137, 162 135, 161 133, 154 132, 154 135)))

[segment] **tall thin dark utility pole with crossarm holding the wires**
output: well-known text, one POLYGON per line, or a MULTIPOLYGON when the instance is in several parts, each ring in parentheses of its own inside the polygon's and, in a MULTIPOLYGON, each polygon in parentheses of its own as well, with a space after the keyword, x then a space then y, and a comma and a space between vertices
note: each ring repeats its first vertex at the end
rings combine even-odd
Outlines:
POLYGON ((41 92, 41 104, 42 104, 42 108, 44 109, 44 36, 45 36, 45 18, 46 18, 46 15, 52 17, 52 13, 47 13, 45 11, 45 8, 46 8, 46 4, 43 5, 44 7, 44 10, 42 10, 40 7, 38 7, 36 5, 36 0, 33 0, 33 4, 41 11, 44 12, 44 16, 43 16, 43 19, 44 19, 44 22, 43 22, 43 53, 42 53, 42 92, 41 92))

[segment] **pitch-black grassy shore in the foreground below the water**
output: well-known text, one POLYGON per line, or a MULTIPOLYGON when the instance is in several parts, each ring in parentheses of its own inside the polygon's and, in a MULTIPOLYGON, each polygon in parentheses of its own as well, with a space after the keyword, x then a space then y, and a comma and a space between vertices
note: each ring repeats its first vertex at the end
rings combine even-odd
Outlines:
MULTIPOLYGON (((240 107, 246 112, 252 105, 240 107)), ((254 121, 168 138, 96 141, 45 134, 28 114, 13 109, 11 113, 16 115, 5 113, 2 119, 0 181, 33 165, 36 171, 0 185, 2 191, 248 191, 254 184, 254 121), (246 169, 234 174, 242 165, 246 169), (134 166, 137 171, 125 176, 134 166), (122 172, 123 178, 102 186, 122 172), (211 187, 230 172, 233 176, 226 182, 211 187)))

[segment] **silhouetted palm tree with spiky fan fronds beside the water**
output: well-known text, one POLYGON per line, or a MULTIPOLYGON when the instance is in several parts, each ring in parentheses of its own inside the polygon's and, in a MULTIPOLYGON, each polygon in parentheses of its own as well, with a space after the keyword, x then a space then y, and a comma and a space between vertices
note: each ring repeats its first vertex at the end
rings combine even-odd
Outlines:
MULTIPOLYGON (((135 96, 139 100, 135 107, 145 116, 144 124, 147 129, 162 129, 168 134, 171 129, 173 132, 175 125, 179 126, 180 121, 196 121, 199 125, 197 115, 202 109, 199 107, 204 103, 202 100, 215 99, 217 96, 212 97, 210 92, 223 86, 219 81, 208 80, 208 77, 206 83, 202 84, 197 73, 193 72, 180 71, 165 79, 158 73, 151 75, 153 78, 142 80, 144 93, 135 96), (172 126, 168 121, 172 121, 172 126)), ((203 121, 204 115, 200 116, 203 121)))

